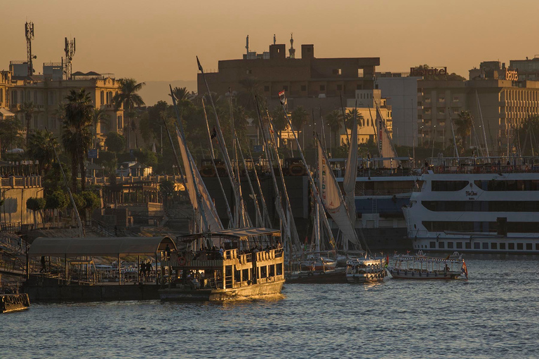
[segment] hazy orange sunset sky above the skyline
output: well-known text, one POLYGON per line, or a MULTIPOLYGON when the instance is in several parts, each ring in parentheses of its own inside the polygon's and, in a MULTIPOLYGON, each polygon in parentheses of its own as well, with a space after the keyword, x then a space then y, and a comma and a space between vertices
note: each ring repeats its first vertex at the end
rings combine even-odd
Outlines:
MULTIPOLYGON (((26 60, 25 21, 34 22, 36 72, 60 62, 76 37, 73 71, 112 72, 138 81, 194 80, 218 60, 267 50, 277 35, 316 57, 380 57, 382 71, 447 66, 467 76, 483 60, 539 54, 537 0, 4 0, 0 69, 26 60)), ((299 57, 299 56, 298 56, 299 57)))

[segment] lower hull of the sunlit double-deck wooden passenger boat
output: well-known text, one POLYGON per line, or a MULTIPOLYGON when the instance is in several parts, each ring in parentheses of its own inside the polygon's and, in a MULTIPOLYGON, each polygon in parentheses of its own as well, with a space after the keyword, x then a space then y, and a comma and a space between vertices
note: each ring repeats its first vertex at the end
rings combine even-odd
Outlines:
POLYGON ((247 285, 245 287, 227 289, 199 289, 185 290, 180 288, 170 288, 159 290, 161 300, 167 301, 225 301, 234 299, 248 299, 263 295, 280 294, 283 289, 284 280, 275 280, 267 283, 247 285))

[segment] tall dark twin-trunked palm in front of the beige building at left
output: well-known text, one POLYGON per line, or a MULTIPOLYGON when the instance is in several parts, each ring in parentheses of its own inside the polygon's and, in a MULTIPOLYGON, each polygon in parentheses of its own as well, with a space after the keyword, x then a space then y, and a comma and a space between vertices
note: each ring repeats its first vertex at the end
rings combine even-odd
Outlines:
POLYGON ((76 191, 77 168, 81 171, 81 189, 84 191, 85 174, 84 157, 92 143, 90 127, 92 126, 93 105, 90 94, 81 89, 71 90, 65 97, 65 118, 62 126, 62 145, 71 155, 72 190, 76 191))

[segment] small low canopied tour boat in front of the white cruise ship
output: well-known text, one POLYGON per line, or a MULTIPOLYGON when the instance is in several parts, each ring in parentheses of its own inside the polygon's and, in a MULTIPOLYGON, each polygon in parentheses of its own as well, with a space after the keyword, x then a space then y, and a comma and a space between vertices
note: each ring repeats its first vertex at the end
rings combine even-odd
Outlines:
POLYGON ((417 255, 396 255, 387 271, 396 279, 457 279, 468 278, 464 259, 458 252, 447 258, 425 257, 420 250, 417 255))

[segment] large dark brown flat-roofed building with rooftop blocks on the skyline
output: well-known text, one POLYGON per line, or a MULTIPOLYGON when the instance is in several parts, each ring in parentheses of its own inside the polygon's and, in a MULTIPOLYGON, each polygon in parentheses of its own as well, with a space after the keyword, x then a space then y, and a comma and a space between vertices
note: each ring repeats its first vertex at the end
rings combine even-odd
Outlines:
MULTIPOLYGON (((354 97, 356 90, 374 88, 375 67, 379 57, 314 56, 314 45, 301 46, 301 58, 295 49, 285 44, 270 45, 270 50, 258 55, 247 51, 241 60, 220 60, 218 72, 206 74, 212 92, 225 95, 229 88, 236 93, 253 93, 267 99, 271 108, 279 106, 279 92, 286 91, 288 110, 299 105, 306 109, 321 108, 324 113, 341 107, 343 100, 354 97)), ((206 93, 201 74, 198 92, 206 93)))

